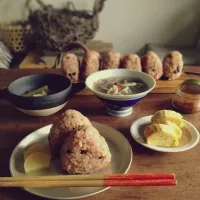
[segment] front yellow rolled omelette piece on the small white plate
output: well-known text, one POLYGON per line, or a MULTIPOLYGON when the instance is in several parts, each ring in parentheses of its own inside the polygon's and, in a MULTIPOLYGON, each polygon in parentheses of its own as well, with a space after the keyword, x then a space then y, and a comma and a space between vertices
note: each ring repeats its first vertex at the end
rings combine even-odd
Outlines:
POLYGON ((146 143, 161 147, 176 147, 179 140, 174 128, 166 124, 151 124, 145 129, 146 143))

